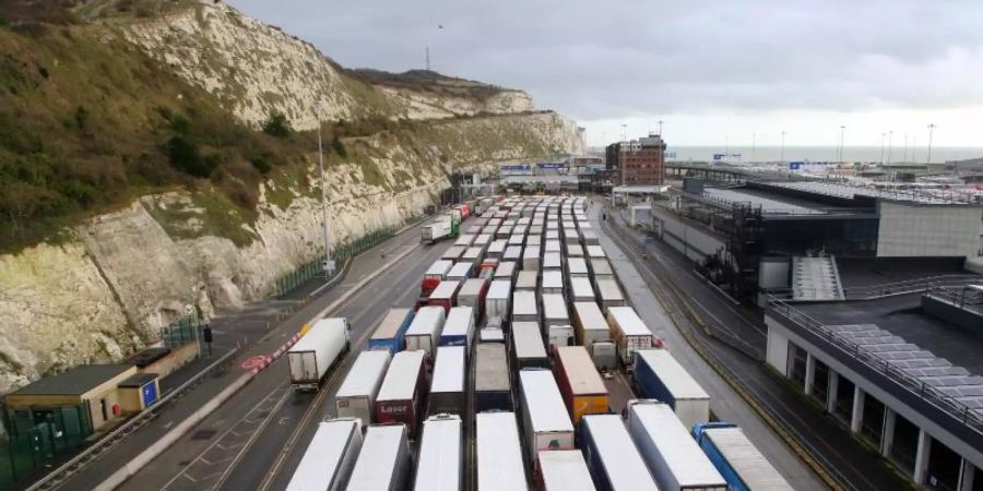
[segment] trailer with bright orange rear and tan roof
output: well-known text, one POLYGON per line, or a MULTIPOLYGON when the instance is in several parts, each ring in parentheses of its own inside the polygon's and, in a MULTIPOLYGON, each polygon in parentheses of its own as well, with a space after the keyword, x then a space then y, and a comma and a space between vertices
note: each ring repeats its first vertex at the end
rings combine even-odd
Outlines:
POLYGON ((611 410, 607 387, 583 346, 557 348, 554 370, 560 394, 564 395, 575 424, 580 422, 583 415, 611 410))

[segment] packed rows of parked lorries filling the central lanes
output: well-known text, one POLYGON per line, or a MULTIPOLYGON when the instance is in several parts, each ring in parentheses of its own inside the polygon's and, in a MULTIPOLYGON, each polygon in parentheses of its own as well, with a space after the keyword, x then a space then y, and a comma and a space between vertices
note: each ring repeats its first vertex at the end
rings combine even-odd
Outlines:
MULTIPOLYGON (((288 489, 791 489, 739 428, 710 421, 585 209, 509 197, 471 220, 415 304, 375 328, 288 489), (621 369, 639 398, 617 415, 604 373, 621 369)), ((296 346, 319 328, 344 331, 341 348, 325 336, 331 367, 348 326, 320 321, 296 346)))

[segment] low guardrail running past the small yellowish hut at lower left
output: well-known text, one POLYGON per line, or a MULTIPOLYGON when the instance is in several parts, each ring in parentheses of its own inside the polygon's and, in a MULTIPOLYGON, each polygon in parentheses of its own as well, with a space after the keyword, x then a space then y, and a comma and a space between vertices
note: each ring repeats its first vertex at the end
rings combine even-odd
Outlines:
POLYGON ((223 355, 221 358, 212 362, 212 364, 205 367, 204 370, 196 373, 194 376, 189 379, 187 382, 165 394, 164 397, 161 397, 161 399, 157 400, 156 404, 128 419, 119 428, 112 430, 111 432, 99 439, 99 441, 94 443, 92 446, 85 448, 79 455, 72 457, 69 462, 62 464, 60 467, 49 472, 47 476, 31 484, 27 490, 51 490, 61 486, 72 476, 84 469, 86 465, 94 462, 107 451, 111 450, 112 446, 119 443, 122 439, 151 421, 153 417, 165 406, 167 406, 169 402, 180 397, 188 390, 198 385, 198 383, 201 382, 201 380, 204 379, 205 375, 211 374, 215 370, 220 369, 223 364, 227 363, 237 352, 238 348, 233 348, 229 352, 223 355))

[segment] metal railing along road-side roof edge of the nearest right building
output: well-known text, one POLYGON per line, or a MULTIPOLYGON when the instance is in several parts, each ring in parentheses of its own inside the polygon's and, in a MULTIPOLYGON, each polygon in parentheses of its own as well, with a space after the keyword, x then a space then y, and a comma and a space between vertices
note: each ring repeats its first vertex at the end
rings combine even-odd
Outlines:
POLYGON ((981 418, 981 415, 976 414, 973 408, 922 382, 902 368, 895 367, 889 360, 878 358, 875 354, 867 351, 861 345, 845 339, 842 336, 838 336, 837 333, 828 328, 826 324, 790 306, 784 300, 769 296, 768 304, 775 313, 821 337, 831 346, 842 351, 843 355, 857 360, 868 369, 881 374, 887 380, 893 382, 898 387, 911 393, 915 397, 932 404, 957 422, 964 424, 976 433, 983 434, 983 418, 981 418))

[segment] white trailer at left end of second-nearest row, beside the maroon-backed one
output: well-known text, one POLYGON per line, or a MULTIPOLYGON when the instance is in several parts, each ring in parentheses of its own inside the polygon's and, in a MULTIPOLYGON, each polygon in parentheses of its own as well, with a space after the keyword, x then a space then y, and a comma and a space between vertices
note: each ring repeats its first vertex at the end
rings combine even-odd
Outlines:
POLYGON ((341 387, 334 394, 334 412, 339 418, 358 418, 362 424, 372 422, 376 396, 389 368, 389 350, 362 351, 341 387))

